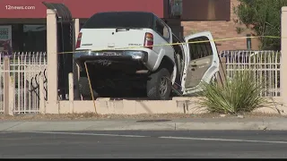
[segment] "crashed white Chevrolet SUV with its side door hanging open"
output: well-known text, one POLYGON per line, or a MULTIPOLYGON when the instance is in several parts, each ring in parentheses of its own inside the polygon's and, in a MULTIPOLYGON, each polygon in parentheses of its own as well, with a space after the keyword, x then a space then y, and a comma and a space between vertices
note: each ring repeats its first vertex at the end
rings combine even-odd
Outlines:
POLYGON ((84 62, 95 97, 166 100, 172 91, 185 96, 199 91, 200 82, 210 82, 219 70, 210 32, 180 40, 164 21, 144 12, 92 15, 80 30, 74 61, 80 69, 80 93, 88 99, 84 62), (205 42, 190 43, 194 41, 205 42))

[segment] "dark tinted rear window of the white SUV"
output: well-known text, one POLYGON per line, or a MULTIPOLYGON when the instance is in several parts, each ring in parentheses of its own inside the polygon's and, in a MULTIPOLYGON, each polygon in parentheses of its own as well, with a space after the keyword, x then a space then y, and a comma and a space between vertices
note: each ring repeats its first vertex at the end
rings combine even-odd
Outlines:
POLYGON ((149 28, 152 29, 152 13, 96 13, 85 22, 83 29, 149 28))

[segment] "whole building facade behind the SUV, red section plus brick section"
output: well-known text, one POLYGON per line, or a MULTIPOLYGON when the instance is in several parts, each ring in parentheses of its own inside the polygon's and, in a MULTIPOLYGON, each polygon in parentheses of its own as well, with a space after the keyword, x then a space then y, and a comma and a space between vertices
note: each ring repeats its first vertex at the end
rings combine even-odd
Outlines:
MULTIPOLYGON (((13 51, 46 51, 46 11, 43 0, 1 0, 0 41, 11 44, 13 51)), ((237 33, 233 6, 237 0, 46 0, 61 3, 74 19, 83 25, 94 13, 108 11, 143 11, 155 13, 168 21, 178 37, 210 30, 214 38, 236 38, 250 32, 237 33)), ((2 43, 2 44, 5 44, 2 43)), ((246 39, 217 42, 219 50, 247 49, 246 39)), ((0 44, 1 46, 1 44, 0 44)), ((0 47, 6 48, 6 47, 0 47)), ((252 49, 257 43, 252 40, 252 49)))

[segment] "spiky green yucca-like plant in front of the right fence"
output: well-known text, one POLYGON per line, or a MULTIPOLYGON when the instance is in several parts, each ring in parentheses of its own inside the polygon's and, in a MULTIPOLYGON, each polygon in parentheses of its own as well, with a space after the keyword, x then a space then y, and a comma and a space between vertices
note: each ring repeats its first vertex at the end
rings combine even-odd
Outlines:
POLYGON ((273 104, 268 97, 260 97, 264 91, 251 72, 236 72, 231 80, 222 85, 204 83, 199 104, 211 113, 241 114, 273 104))

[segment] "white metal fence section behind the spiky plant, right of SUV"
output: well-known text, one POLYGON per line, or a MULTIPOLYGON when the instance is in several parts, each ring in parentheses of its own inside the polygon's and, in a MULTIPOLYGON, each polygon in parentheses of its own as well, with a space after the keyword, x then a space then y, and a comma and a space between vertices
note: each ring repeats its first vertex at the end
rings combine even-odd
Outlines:
POLYGON ((280 97, 279 51, 222 51, 226 58, 227 79, 236 72, 250 71, 255 80, 265 89, 262 97, 280 97))

